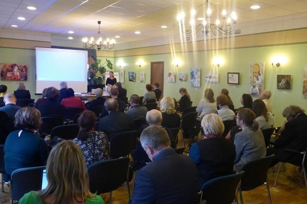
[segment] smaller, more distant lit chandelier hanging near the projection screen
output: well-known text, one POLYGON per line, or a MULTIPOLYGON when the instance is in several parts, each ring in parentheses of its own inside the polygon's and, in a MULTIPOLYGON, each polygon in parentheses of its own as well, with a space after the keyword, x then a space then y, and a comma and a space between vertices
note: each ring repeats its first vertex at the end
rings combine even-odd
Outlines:
POLYGON ((115 40, 114 39, 109 39, 106 38, 104 41, 102 40, 102 38, 100 37, 100 24, 101 21, 98 21, 98 40, 96 41, 96 43, 94 43, 94 38, 91 37, 90 40, 89 38, 82 38, 82 42, 83 42, 83 47, 84 48, 89 48, 89 49, 102 49, 102 50, 112 50, 114 49, 114 45, 115 45, 115 40))

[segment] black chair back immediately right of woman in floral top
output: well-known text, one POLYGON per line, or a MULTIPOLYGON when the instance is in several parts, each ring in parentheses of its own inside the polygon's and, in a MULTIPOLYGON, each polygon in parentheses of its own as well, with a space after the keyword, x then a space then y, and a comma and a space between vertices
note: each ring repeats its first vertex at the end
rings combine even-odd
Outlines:
POLYGON ((115 135, 109 141, 109 154, 111 158, 125 157, 136 148, 138 131, 123 132, 115 135))

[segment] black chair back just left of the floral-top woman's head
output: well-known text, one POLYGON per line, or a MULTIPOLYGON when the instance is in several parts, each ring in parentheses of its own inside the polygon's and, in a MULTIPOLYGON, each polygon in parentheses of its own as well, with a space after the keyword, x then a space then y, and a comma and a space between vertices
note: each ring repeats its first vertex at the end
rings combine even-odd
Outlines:
POLYGON ((77 124, 60 125, 54 127, 50 135, 51 137, 60 137, 64 140, 72 140, 77 137, 79 133, 79 126, 77 124))

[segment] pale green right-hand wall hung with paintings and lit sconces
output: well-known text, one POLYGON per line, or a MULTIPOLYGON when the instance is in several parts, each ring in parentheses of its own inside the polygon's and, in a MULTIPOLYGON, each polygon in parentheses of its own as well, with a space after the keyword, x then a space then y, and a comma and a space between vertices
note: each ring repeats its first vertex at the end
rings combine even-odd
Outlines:
MULTIPOLYGON (((114 63, 123 61, 125 69, 125 83, 123 87, 128 90, 128 96, 137 93, 144 95, 145 84, 150 83, 150 62, 164 61, 164 96, 172 96, 179 99, 180 87, 187 88, 193 106, 197 106, 199 100, 204 95, 206 88, 212 88, 215 97, 218 96, 222 88, 229 90, 229 95, 234 102, 235 108, 241 107, 240 97, 243 93, 249 93, 249 65, 252 62, 265 62, 265 89, 272 91, 271 103, 273 104, 273 114, 275 115, 275 125, 281 125, 284 121, 282 111, 289 105, 297 105, 307 110, 307 100, 302 96, 302 80, 303 67, 307 65, 307 44, 292 44, 292 45, 276 45, 276 46, 261 46, 250 48, 236 48, 225 50, 211 50, 202 52, 177 53, 176 58, 182 61, 182 65, 178 68, 172 66, 172 56, 175 54, 160 54, 160 55, 144 55, 144 56, 129 56, 116 57, 114 63), (276 55, 287 57, 287 62, 279 68, 271 66, 271 59, 276 55), (224 59, 224 64, 219 68, 213 68, 213 57, 221 57, 224 59), (138 60, 145 62, 141 68, 135 64, 138 60), (190 68, 201 68, 201 88, 191 87, 190 81, 182 82, 178 80, 178 73, 186 72, 188 79, 190 77, 190 68), (136 82, 128 81, 128 71, 136 71, 136 82), (140 83, 140 71, 145 72, 146 83, 140 83), (167 72, 176 72, 176 83, 167 82, 167 72), (218 83, 206 83, 204 81, 205 73, 217 72, 219 77, 218 83), (239 72, 240 84, 227 84, 227 72, 239 72), (292 90, 277 90, 276 75, 291 74, 292 90)), ((118 70, 118 68, 116 68, 118 70)))

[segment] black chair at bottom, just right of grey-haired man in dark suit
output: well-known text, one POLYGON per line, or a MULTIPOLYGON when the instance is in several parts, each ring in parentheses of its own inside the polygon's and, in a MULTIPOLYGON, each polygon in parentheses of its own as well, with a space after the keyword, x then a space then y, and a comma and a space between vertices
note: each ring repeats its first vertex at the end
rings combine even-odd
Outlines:
POLYGON ((220 176, 206 182, 199 194, 201 199, 206 200, 207 204, 223 203, 230 204, 236 199, 240 180, 244 175, 244 171, 231 175, 220 176))

